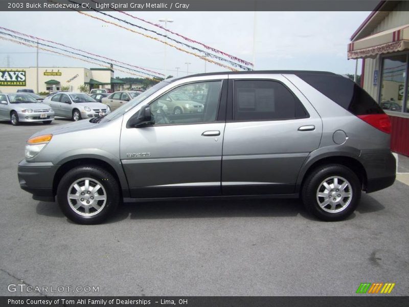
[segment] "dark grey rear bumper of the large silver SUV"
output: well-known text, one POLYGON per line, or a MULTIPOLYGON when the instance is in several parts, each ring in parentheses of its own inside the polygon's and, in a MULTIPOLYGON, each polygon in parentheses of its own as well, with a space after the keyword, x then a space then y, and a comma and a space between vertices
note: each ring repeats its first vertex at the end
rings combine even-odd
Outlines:
POLYGON ((390 150, 363 153, 360 158, 367 173, 364 191, 371 193, 393 185, 396 179, 396 160, 390 150))

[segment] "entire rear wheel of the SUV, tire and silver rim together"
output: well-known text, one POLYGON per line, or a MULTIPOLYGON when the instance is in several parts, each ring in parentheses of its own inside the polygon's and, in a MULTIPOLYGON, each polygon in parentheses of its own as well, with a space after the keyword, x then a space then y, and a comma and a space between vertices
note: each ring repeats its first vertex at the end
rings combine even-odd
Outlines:
POLYGON ((315 168, 305 179, 301 190, 305 208, 327 222, 345 220, 355 211, 360 196, 358 177, 350 168, 340 164, 315 168))

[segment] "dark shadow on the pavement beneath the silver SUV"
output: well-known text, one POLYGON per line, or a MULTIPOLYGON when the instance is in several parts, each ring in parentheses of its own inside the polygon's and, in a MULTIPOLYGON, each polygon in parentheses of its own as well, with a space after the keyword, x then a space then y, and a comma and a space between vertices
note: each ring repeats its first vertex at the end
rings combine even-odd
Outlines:
MULTIPOLYGON (((385 207, 372 196, 362 194, 356 209, 360 214, 383 210, 385 207)), ((65 218, 57 203, 39 202, 36 212, 40 215, 65 218)), ((127 218, 149 220, 160 218, 209 218, 209 217, 295 217, 319 221, 307 212, 298 199, 254 200, 202 200, 202 201, 151 201, 120 205, 106 223, 116 223, 127 218)), ((356 216, 352 213, 347 220, 356 216)), ((69 220, 67 220, 69 221, 69 220)), ((69 221, 71 223, 71 221, 69 221)))

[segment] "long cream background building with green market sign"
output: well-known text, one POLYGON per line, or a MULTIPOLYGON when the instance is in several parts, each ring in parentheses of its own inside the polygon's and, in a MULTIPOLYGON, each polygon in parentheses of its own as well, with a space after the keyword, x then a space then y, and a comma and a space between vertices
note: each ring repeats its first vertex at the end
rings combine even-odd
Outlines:
POLYGON ((112 68, 0 68, 0 91, 3 93, 15 93, 19 89, 31 89, 36 93, 53 92, 61 90, 62 86, 78 91, 78 87, 84 84, 89 89, 122 91, 124 82, 113 77, 112 68))

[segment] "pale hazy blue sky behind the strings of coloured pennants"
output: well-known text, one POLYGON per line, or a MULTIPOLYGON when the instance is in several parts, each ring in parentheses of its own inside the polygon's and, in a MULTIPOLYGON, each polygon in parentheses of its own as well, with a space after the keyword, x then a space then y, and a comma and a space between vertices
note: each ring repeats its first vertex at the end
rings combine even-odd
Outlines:
MULTIPOLYGON (((109 13, 134 24, 162 31, 124 14, 109 13)), ((154 23, 158 23, 161 18, 171 18, 174 22, 168 24, 168 27, 172 31, 247 61, 254 59, 257 70, 325 70, 352 74, 355 71, 355 61, 347 60, 347 44, 352 33, 370 12, 129 13, 154 23)), ((97 13, 92 14, 109 19, 97 13)), ((164 73, 165 47, 162 43, 113 25, 107 26, 102 21, 77 12, 3 13, 2 26, 164 73)), ((11 67, 34 66, 34 52, 35 49, 0 40, 0 66, 6 66, 7 56, 11 67)), ((167 47, 166 54, 168 75, 175 76, 176 67, 180 68, 179 76, 186 75, 186 62, 191 63, 189 73, 204 72, 205 63, 201 59, 171 47, 167 47)), ((39 55, 39 65, 88 68, 96 66, 75 59, 44 54, 43 51, 39 55)), ((224 70, 217 65, 207 64, 207 72, 224 70)), ((117 71, 116 76, 127 74, 117 71)))

